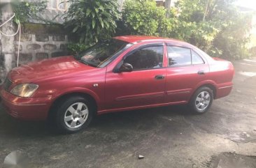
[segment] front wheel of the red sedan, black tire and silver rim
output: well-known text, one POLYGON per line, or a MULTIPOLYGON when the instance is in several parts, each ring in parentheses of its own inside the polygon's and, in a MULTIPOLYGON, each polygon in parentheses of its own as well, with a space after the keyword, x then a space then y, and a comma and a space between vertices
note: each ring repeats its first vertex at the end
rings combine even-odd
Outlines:
POLYGON ((59 132, 72 134, 87 128, 92 116, 90 101, 81 96, 73 96, 59 102, 55 121, 59 132))

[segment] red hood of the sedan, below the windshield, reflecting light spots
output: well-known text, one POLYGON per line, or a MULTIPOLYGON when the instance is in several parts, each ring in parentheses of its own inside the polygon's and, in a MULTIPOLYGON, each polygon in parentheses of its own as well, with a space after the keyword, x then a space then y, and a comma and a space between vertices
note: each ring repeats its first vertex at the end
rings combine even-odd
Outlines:
POLYGON ((31 83, 92 69, 96 68, 76 61, 73 56, 62 56, 14 68, 10 71, 8 78, 15 83, 31 83))

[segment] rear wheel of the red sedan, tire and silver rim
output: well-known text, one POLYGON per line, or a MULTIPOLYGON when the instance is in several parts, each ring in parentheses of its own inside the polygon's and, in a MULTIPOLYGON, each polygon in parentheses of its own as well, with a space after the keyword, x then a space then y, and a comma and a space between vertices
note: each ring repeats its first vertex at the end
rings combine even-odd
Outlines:
POLYGON ((204 114, 213 102, 213 90, 203 86, 194 92, 189 106, 194 114, 204 114))

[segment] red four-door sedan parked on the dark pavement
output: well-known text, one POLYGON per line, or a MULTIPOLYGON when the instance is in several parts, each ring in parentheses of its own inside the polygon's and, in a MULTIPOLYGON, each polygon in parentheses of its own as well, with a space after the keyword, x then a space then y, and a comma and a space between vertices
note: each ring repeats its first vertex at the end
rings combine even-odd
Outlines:
POLYGON ((234 67, 188 43, 120 36, 81 52, 14 68, 0 88, 15 118, 52 119, 77 132, 94 114, 188 104, 197 114, 229 95, 234 67))

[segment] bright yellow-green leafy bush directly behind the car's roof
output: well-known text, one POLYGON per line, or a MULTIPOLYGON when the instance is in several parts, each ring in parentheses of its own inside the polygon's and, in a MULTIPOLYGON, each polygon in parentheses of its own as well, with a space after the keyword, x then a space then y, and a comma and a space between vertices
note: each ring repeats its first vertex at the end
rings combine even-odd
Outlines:
POLYGON ((166 10, 154 0, 126 0, 122 15, 133 34, 166 36, 171 27, 166 10))

